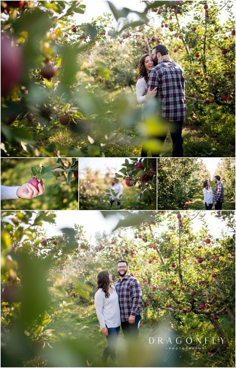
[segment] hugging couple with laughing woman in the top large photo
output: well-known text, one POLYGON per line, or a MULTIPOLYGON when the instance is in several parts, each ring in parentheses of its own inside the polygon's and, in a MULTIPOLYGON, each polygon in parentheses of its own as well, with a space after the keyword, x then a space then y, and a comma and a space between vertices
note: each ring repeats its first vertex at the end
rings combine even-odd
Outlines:
MULTIPOLYGON (((163 146, 170 127, 172 156, 183 157, 182 127, 186 116, 183 69, 170 60, 168 49, 164 45, 154 47, 152 55, 146 53, 141 56, 136 96, 143 110, 148 99, 157 99, 159 111, 156 113, 161 117, 163 132, 150 137, 156 140, 156 147, 163 146)), ((152 157, 160 157, 160 152, 161 149, 153 150, 152 157)), ((147 153, 142 148, 141 157, 147 157, 147 153)))

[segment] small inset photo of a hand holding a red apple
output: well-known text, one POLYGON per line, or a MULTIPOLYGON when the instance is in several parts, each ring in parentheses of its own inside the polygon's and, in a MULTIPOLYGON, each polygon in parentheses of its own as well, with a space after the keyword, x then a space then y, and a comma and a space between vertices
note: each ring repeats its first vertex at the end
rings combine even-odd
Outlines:
POLYGON ((2 210, 78 210, 78 158, 2 158, 2 210))

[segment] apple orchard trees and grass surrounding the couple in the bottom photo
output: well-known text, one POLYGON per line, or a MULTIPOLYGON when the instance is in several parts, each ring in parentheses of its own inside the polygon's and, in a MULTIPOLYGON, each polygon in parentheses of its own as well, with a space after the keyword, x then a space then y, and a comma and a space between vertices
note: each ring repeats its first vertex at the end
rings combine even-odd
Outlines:
POLYGON ((47 237, 43 224, 54 226, 53 212, 1 215, 2 367, 100 366, 105 338, 93 305, 96 276, 108 269, 116 280, 123 258, 142 287, 142 324, 130 355, 120 334, 118 366, 162 367, 166 352, 145 342, 164 334, 215 339, 202 350, 193 342, 190 353, 172 353, 168 366, 234 367, 234 211, 212 212, 220 227, 224 222, 217 237, 205 211, 105 211, 119 221, 92 243, 79 223, 47 237))

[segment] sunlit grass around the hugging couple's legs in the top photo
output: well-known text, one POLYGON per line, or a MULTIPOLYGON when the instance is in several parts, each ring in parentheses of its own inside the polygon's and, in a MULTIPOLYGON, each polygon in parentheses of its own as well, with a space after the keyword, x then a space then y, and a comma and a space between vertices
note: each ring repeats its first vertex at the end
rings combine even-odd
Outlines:
MULTIPOLYGON (((88 125, 93 124, 88 131, 85 131, 87 129, 86 120, 83 127, 80 128, 78 125, 79 132, 74 132, 66 126, 55 125, 45 130, 45 133, 41 132, 40 138, 37 135, 34 136, 36 143, 32 152, 22 151, 22 147, 15 143, 12 148, 9 148, 11 149, 9 154, 14 157, 25 155, 51 157, 57 156, 60 152, 61 156, 69 157, 71 152, 73 156, 85 157, 93 155, 99 157, 139 157, 143 138, 138 133, 138 118, 132 116, 132 113, 127 110, 123 113, 122 109, 125 109, 125 104, 118 108, 117 101, 122 93, 121 91, 101 90, 103 100, 106 101, 106 109, 102 115, 92 117, 91 121, 88 120, 88 125), (88 135, 93 138, 94 145, 99 148, 99 152, 97 149, 96 153, 91 152, 91 147, 94 145, 89 143, 88 135), (46 150, 45 147, 47 147, 46 150), (77 151, 76 155, 74 150, 81 151, 77 151)), ((130 94, 130 92, 128 93, 130 94)), ((128 93, 126 97, 130 97, 128 93)), ((131 97, 135 106, 133 93, 131 97)), ((207 118, 210 119, 208 116, 207 118)), ((232 120, 231 116, 229 120, 232 120)), ((209 132, 204 128, 204 121, 199 125, 193 125, 191 118, 186 120, 183 127, 185 157, 235 157, 234 140, 224 139, 223 133, 226 137, 227 135, 223 131, 224 125, 220 124, 219 121, 211 121, 212 125, 217 124, 218 129, 209 132)), ((169 134, 164 143, 162 156, 172 156, 172 142, 169 134)))

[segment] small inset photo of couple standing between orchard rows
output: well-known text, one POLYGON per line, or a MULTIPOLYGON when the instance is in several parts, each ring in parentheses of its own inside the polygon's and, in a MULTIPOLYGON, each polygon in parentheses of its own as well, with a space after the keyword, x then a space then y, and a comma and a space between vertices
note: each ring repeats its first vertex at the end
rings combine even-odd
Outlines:
POLYGON ((158 210, 235 210, 235 158, 158 158, 158 210))

